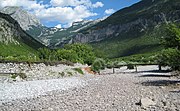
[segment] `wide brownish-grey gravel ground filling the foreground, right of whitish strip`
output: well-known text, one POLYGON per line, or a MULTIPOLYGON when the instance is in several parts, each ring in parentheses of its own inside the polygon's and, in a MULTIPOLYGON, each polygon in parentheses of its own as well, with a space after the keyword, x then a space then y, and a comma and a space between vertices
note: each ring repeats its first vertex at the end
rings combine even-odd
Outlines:
MULTIPOLYGON (((179 86, 173 84, 180 83, 180 81, 170 78, 169 73, 148 72, 147 67, 149 68, 149 66, 141 67, 139 73, 128 73, 126 71, 124 74, 120 73, 120 70, 116 70, 117 73, 111 75, 76 77, 72 80, 68 78, 71 83, 73 82, 69 85, 66 80, 65 83, 63 80, 49 80, 54 81, 52 83, 56 84, 58 88, 47 88, 54 86, 43 86, 41 84, 40 86, 48 90, 43 92, 45 94, 42 93, 37 97, 25 97, 9 101, 4 101, 5 98, 0 97, 0 110, 143 111, 146 109, 148 111, 179 111, 180 89, 179 86), (141 72, 141 70, 147 72, 141 72), (56 83, 57 81, 61 81, 61 83, 56 83), (63 87, 61 84, 67 84, 67 87, 69 87, 66 90, 61 90, 62 88, 59 88, 63 87), (145 97, 153 100, 156 105, 142 108, 138 103, 141 98, 145 97)), ((156 69, 157 67, 152 66, 151 68, 156 69)), ((20 84, 26 84, 26 82, 20 84)), ((7 85, 3 87, 7 87, 7 85)), ((2 90, 2 88, 0 89, 2 90)))

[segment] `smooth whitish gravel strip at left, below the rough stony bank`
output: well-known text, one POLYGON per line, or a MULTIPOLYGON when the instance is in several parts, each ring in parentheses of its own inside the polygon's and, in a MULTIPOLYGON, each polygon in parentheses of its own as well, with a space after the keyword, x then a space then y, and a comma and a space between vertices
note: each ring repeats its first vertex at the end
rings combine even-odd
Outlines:
POLYGON ((39 80, 27 82, 0 83, 0 100, 9 101, 20 98, 33 98, 46 95, 46 92, 54 90, 67 90, 74 87, 85 86, 85 81, 71 77, 64 79, 39 80))

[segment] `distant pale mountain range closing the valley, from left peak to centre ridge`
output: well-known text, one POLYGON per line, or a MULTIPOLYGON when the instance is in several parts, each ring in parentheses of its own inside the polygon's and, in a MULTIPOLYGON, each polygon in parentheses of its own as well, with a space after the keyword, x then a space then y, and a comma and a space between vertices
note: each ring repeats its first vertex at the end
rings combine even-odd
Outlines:
POLYGON ((55 28, 43 26, 34 15, 23 10, 21 7, 7 6, 1 12, 9 14, 18 21, 23 30, 29 35, 51 48, 71 43, 71 37, 75 36, 78 31, 91 27, 103 20, 84 20, 74 22, 69 28, 55 28))

